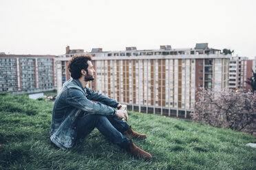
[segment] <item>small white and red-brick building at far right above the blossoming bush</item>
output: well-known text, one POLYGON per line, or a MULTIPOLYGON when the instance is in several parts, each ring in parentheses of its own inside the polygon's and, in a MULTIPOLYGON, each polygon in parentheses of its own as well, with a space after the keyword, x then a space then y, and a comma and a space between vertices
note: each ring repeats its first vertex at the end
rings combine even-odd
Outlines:
POLYGON ((253 75, 253 62, 247 57, 232 57, 229 61, 229 88, 233 90, 251 90, 246 84, 249 77, 253 75))

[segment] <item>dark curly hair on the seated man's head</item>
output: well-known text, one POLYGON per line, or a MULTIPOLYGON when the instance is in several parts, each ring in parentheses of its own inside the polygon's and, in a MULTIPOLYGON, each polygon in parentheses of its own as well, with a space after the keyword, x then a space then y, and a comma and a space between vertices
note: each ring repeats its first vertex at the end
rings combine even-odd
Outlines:
POLYGON ((88 74, 88 64, 87 61, 92 61, 92 56, 89 54, 82 54, 78 56, 73 56, 68 62, 68 70, 71 73, 73 79, 78 79, 82 76, 81 70, 85 70, 88 74))

